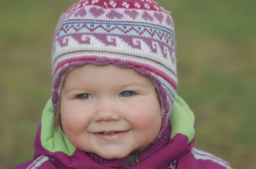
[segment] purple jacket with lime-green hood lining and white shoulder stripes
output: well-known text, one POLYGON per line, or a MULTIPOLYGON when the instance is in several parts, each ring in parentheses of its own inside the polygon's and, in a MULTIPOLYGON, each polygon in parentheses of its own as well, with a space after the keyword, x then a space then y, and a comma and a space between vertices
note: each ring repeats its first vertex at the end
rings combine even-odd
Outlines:
POLYGON ((49 100, 35 138, 34 159, 14 169, 232 169, 224 159, 193 146, 195 116, 179 96, 170 117, 171 141, 132 167, 93 161, 87 153, 76 149, 61 130, 52 138, 52 117, 49 100))

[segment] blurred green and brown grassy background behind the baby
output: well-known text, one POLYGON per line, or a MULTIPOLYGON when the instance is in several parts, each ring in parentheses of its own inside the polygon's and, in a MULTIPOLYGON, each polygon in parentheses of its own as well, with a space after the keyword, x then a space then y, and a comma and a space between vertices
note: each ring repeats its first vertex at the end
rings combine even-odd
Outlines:
MULTIPOLYGON (((0 169, 32 159, 55 25, 75 2, 0 0, 0 169)), ((256 169, 256 1, 158 2, 174 18, 178 93, 196 115, 195 145, 256 169)))

